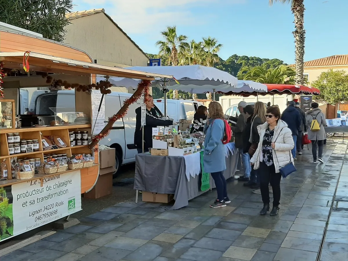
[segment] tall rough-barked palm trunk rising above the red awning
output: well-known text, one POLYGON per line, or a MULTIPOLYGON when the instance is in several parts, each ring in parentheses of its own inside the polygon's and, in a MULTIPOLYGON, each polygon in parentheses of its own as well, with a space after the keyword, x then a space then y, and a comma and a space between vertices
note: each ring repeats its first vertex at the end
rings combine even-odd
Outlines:
POLYGON ((303 77, 304 34, 306 33, 306 30, 303 28, 305 10, 303 0, 269 0, 270 5, 273 5, 275 2, 291 3, 291 11, 295 17, 295 31, 292 32, 295 38, 295 82, 298 85, 303 85, 306 82, 303 77))

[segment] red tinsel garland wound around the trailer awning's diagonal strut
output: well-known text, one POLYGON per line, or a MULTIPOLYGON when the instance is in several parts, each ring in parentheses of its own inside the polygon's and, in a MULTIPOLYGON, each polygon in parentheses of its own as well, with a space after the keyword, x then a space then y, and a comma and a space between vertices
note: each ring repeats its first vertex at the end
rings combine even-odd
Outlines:
MULTIPOLYGON (((144 94, 144 103, 147 103, 149 100, 149 93, 150 93, 150 86, 151 86, 151 81, 150 80, 141 80, 138 84, 138 88, 144 87, 143 91, 139 93, 137 96, 132 96, 129 99, 126 99, 123 103, 123 105, 128 105, 127 109, 119 114, 114 114, 112 117, 109 118, 109 122, 115 122, 127 115, 128 108, 130 104, 135 103, 139 98, 141 97, 142 94, 144 94)), ((99 142, 100 140, 104 139, 106 136, 110 134, 110 129, 106 130, 105 132, 101 132, 98 135, 95 135, 92 139, 92 141, 99 142)), ((95 149, 96 151, 97 149, 95 149)))

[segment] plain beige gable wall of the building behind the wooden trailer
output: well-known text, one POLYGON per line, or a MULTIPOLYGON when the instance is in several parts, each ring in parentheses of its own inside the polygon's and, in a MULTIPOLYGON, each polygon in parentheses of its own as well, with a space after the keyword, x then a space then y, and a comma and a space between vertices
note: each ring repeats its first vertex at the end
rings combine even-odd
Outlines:
POLYGON ((65 44, 84 50, 97 63, 111 66, 147 66, 148 57, 104 13, 70 20, 65 44))

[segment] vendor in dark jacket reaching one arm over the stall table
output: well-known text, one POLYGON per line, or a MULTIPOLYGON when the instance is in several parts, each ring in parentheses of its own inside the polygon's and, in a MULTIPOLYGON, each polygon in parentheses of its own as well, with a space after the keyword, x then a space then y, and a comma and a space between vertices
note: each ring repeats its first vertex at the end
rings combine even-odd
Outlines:
POLYGON ((136 122, 135 122, 135 132, 134 132, 134 144, 138 153, 143 152, 144 142, 144 152, 149 151, 152 148, 152 128, 157 126, 169 126, 176 125, 177 123, 173 120, 158 118, 155 108, 153 108, 153 97, 149 95, 149 102, 146 104, 146 125, 144 126, 144 141, 142 140, 142 127, 141 127, 141 107, 135 109, 136 122))

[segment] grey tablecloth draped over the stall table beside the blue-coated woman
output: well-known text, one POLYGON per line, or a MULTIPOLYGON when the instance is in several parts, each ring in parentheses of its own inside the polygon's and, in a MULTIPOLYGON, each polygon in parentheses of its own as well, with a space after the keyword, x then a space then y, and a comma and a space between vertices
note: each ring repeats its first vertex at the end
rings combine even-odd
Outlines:
MULTIPOLYGON (((239 153, 226 158, 226 167, 223 175, 226 179, 234 176, 238 165, 239 153)), ((192 163, 199 164, 199 163, 192 163)), ((189 200, 199 196, 201 191, 200 175, 187 180, 183 157, 153 156, 149 153, 140 153, 135 156, 134 189, 174 194, 175 203, 171 209, 179 209, 189 204, 189 200)), ((210 177, 210 186, 215 188, 210 177)))

